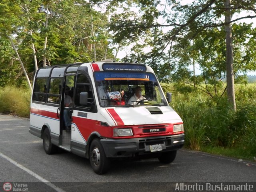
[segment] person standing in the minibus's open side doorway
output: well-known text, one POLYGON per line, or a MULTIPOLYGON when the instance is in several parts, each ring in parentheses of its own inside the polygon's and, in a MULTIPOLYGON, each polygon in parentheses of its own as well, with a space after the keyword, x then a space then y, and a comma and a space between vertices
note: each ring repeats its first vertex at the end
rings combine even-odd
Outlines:
POLYGON ((73 100, 72 98, 68 95, 70 91, 69 86, 65 87, 65 99, 64 99, 64 124, 65 124, 65 129, 66 131, 71 130, 71 119, 70 119, 70 111, 69 108, 73 106, 73 100))

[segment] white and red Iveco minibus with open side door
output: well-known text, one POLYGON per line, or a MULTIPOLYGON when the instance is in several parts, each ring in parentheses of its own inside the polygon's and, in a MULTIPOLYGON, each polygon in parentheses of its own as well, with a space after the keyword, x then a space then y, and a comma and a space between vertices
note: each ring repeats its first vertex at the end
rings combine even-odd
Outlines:
POLYGON ((59 147, 88 158, 97 174, 106 172, 113 158, 170 163, 184 144, 183 122, 170 101, 171 94, 164 96, 154 71, 144 64, 46 66, 34 78, 29 132, 43 139, 47 154, 59 147), (64 105, 66 87, 73 100, 69 107, 64 105), (144 99, 131 101, 137 87, 144 99), (70 115, 70 131, 64 110, 70 115))

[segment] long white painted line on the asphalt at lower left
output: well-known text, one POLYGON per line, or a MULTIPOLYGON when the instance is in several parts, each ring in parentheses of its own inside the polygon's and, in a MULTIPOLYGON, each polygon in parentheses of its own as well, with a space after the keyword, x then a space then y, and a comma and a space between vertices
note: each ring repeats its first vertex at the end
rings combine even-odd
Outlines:
POLYGON ((9 162, 11 162, 12 164, 16 165, 18 168, 21 168, 22 170, 26 171, 28 174, 32 175, 33 177, 37 178, 38 180, 40 180, 41 182, 45 183, 46 185, 50 186, 51 188, 53 188, 54 190, 56 190, 57 192, 66 192, 64 190, 62 190, 61 188, 58 188, 56 185, 52 184, 50 181, 42 178, 41 176, 39 176, 38 174, 36 174, 35 172, 29 170, 28 168, 24 167, 23 165, 19 164, 18 162, 14 161, 13 159, 11 159, 10 157, 2 154, 0 152, 0 156, 2 158, 5 158, 6 160, 8 160, 9 162))

